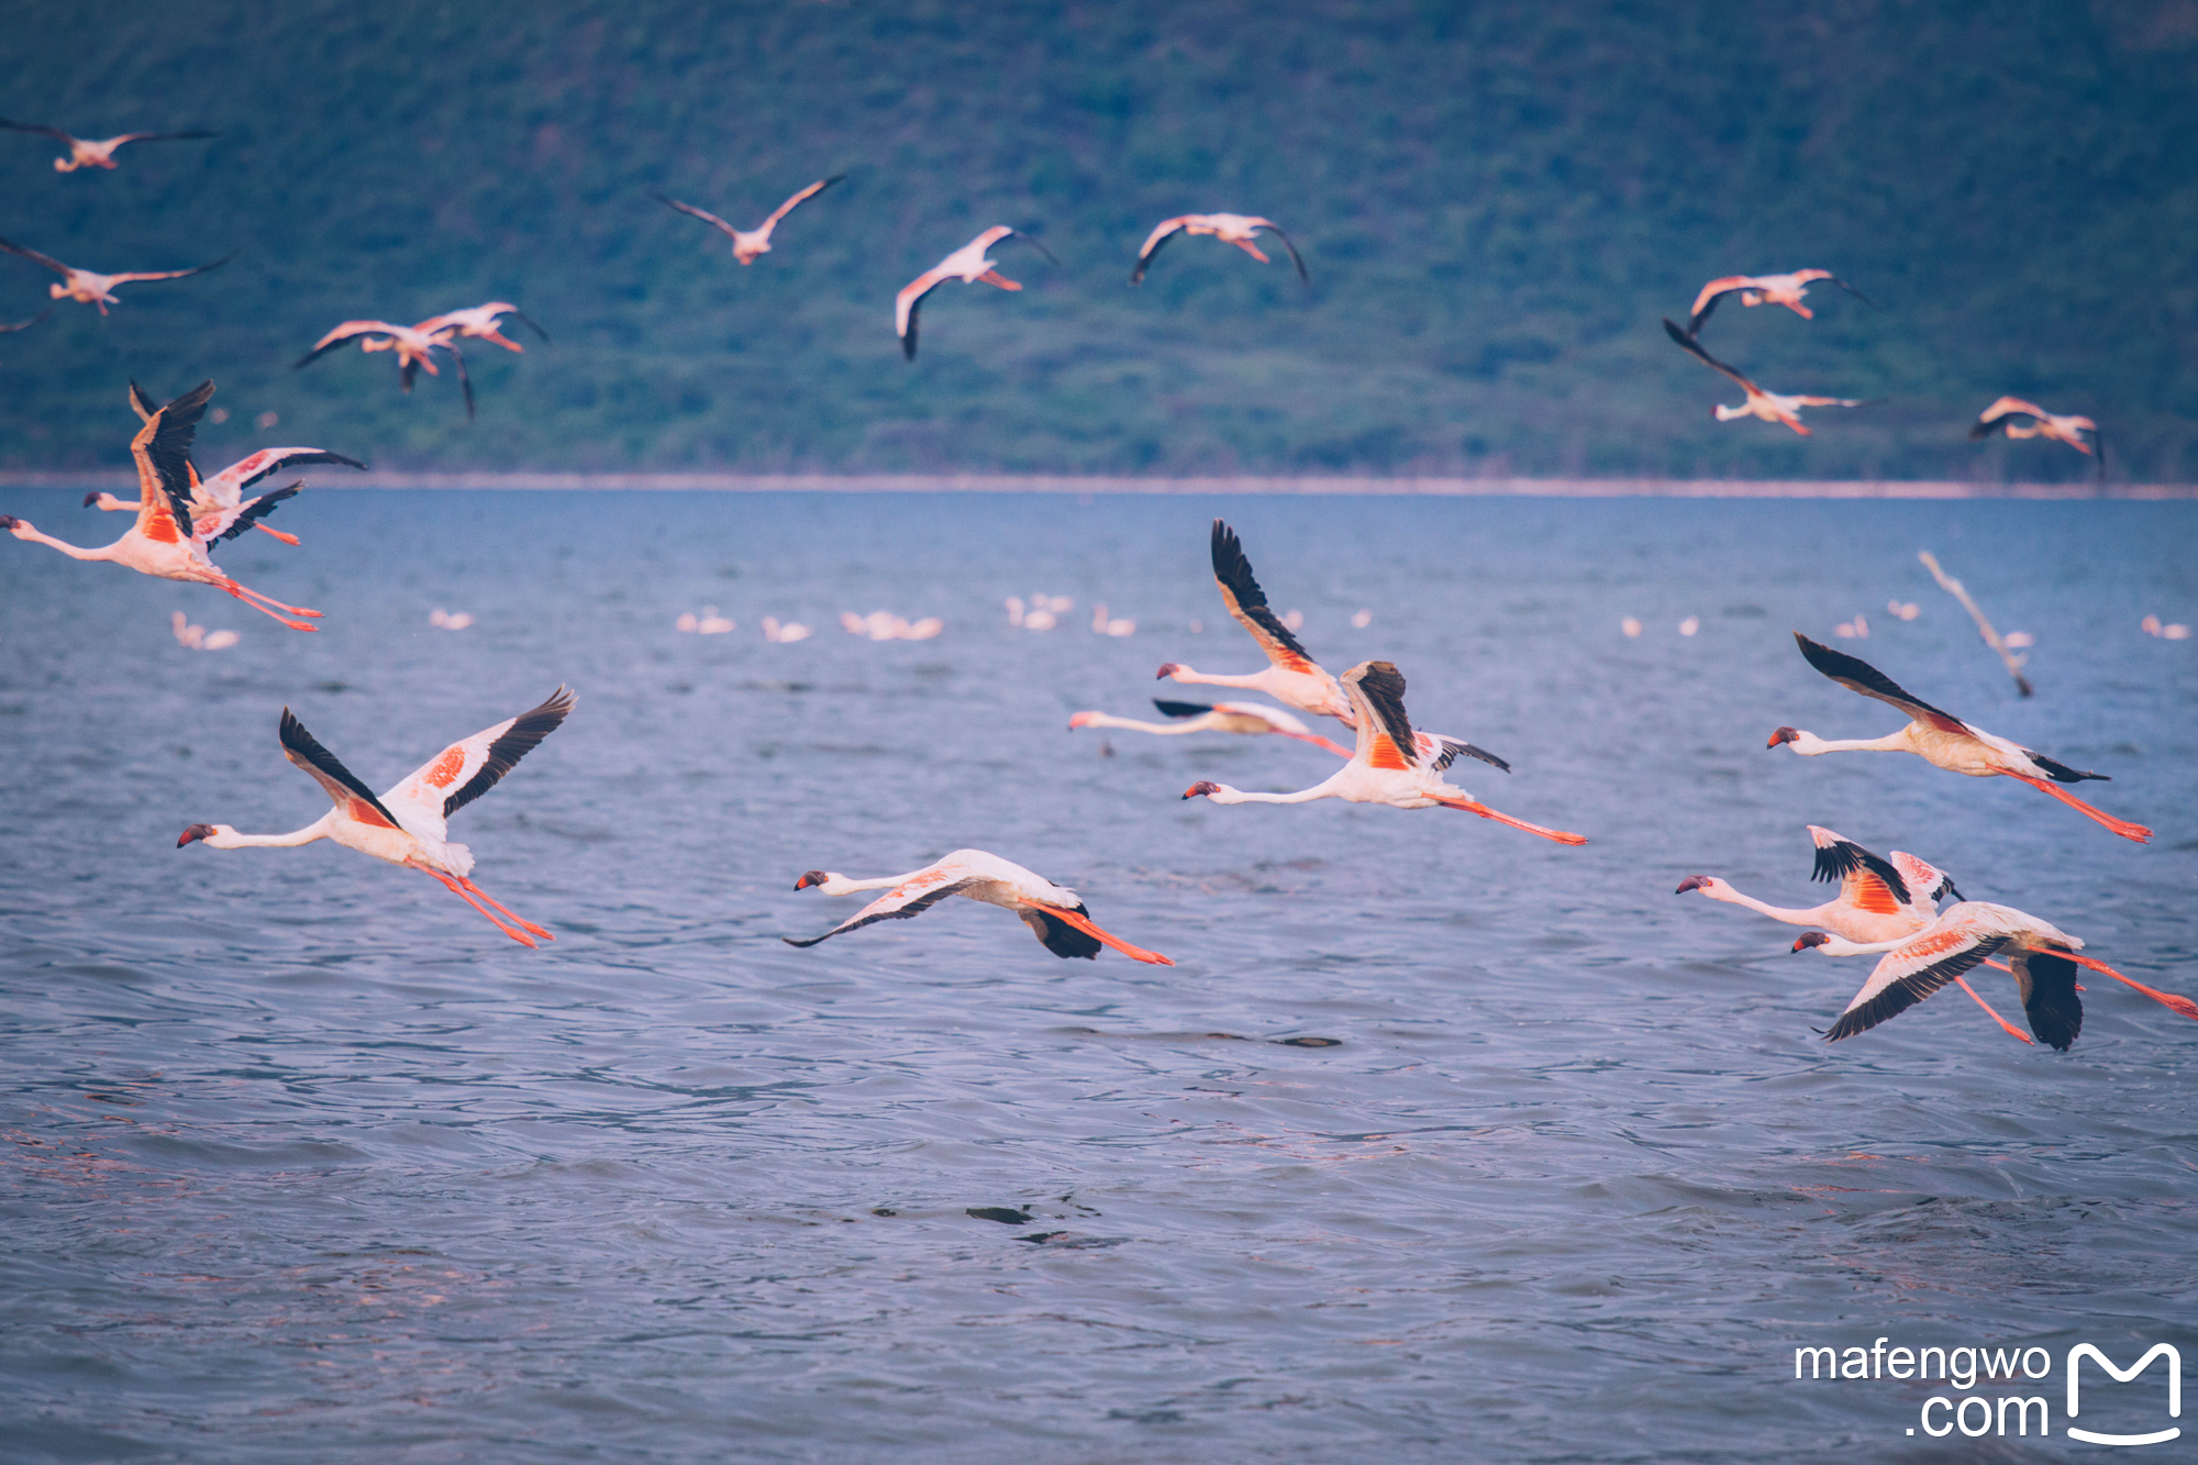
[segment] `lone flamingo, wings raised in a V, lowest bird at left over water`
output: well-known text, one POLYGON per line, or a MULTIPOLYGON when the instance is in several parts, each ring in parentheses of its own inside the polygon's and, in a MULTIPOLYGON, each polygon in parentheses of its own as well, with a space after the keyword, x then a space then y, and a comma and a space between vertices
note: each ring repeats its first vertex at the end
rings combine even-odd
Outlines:
POLYGON ((191 825, 176 847, 204 840, 211 849, 288 849, 336 840, 345 849, 433 875, 521 946, 534 946, 534 937, 554 941, 554 935, 519 919, 468 878, 473 851, 451 842, 448 818, 492 790, 519 759, 556 732, 571 702, 571 693, 558 686, 541 706, 451 743, 380 796, 336 761, 336 754, 323 748, 290 708, 284 708, 277 726, 284 757, 312 774, 336 807, 290 834, 237 834, 229 825, 191 825), (499 915, 510 924, 497 919, 499 915))

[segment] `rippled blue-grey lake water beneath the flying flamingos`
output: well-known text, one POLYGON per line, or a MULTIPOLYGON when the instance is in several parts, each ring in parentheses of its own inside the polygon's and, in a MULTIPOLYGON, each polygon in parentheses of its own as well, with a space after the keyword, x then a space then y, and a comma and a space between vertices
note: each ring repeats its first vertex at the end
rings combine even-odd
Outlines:
MULTIPOLYGON (((77 497, 0 510, 119 532, 77 497)), ((1822 823, 2198 992, 2198 642, 2136 631, 2198 620, 2198 506, 354 491, 277 524, 306 543, 222 557, 317 636, 0 541, 11 1461, 2077 1458, 2071 1344, 2198 1357, 2198 1023, 2092 977, 2066 1056, 1952 990, 1827 1047, 1864 963, 1673 895, 1813 904, 1822 823), (1257 667, 1213 513, 1330 669, 1396 660, 1512 761, 1466 787, 1594 842, 1183 803, 1332 759, 1070 735, 1198 695, 1163 660, 1257 667), (2035 700, 1921 548, 2038 638, 2035 700), (1077 607, 1033 634, 1009 594, 1077 607), (673 631, 706 605, 739 629, 673 631), (171 609, 244 640, 185 651, 171 609), (837 627, 873 609, 947 629, 837 627), (2084 792, 2156 842, 1765 750, 1897 726, 1794 651, 1857 612, 1842 645, 2112 772, 2084 792), (325 842, 176 849, 325 809, 284 706, 385 787, 558 682, 574 717, 453 823, 543 950, 325 842), (969 902, 780 944, 855 908, 800 871, 961 845, 1176 966, 969 902), (2020 1390, 2053 1443, 1791 1377, 1881 1335, 2053 1351, 2020 1390)), ((2119 1388, 2084 1423, 2152 1425, 2158 1373, 2119 1388)))

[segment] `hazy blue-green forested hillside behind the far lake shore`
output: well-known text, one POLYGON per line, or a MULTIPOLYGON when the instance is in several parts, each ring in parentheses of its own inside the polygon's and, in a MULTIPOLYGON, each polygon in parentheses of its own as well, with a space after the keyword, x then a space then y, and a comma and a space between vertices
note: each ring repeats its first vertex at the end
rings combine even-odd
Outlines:
MULTIPOLYGON (((204 458, 378 466, 2079 477, 1965 440, 2002 392, 2101 420, 2117 477, 2198 480, 2198 4, 2007 0, 29 0, 0 114, 218 128, 57 176, 0 134, 0 235, 99 271, 226 268, 0 337, 0 466, 119 466, 125 381, 204 376, 204 458), (752 268, 743 227, 848 178, 752 268), (1312 268, 1143 233, 1268 213, 1312 268), (978 229, 1029 288, 892 293, 978 229), (1675 350, 1712 275, 1827 266, 1807 323, 1706 343, 1816 436, 1717 425, 1675 350), (481 396, 349 317, 519 301, 481 396), (255 427, 277 414, 279 427, 255 427)), ((51 275, 0 257, 0 319, 51 275)))

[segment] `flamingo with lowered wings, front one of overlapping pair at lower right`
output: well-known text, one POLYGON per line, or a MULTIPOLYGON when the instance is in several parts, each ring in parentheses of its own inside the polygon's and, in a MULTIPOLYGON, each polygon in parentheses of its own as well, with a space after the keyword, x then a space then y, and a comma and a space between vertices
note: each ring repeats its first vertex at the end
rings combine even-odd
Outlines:
MULTIPOLYGON (((1824 1034, 1827 1043, 1853 1038, 1954 981, 1994 952, 2005 952, 2022 994, 2022 1012, 2038 1040, 2068 1051, 2084 1027, 2084 1003, 2077 999, 2075 968, 2088 966, 2114 981, 2136 988, 2178 1016, 2198 1021, 2198 1003, 2174 992, 2130 981, 2092 957, 2077 955, 2082 939, 2013 906, 1965 900, 1939 913, 1939 919, 1910 937, 1890 941, 1846 941, 1824 930, 1807 930, 1794 950, 1818 948, 1827 957, 1862 957, 1884 952, 1840 1021, 1824 1034)), ((1998 966, 1998 963, 1994 963, 1998 966)))

